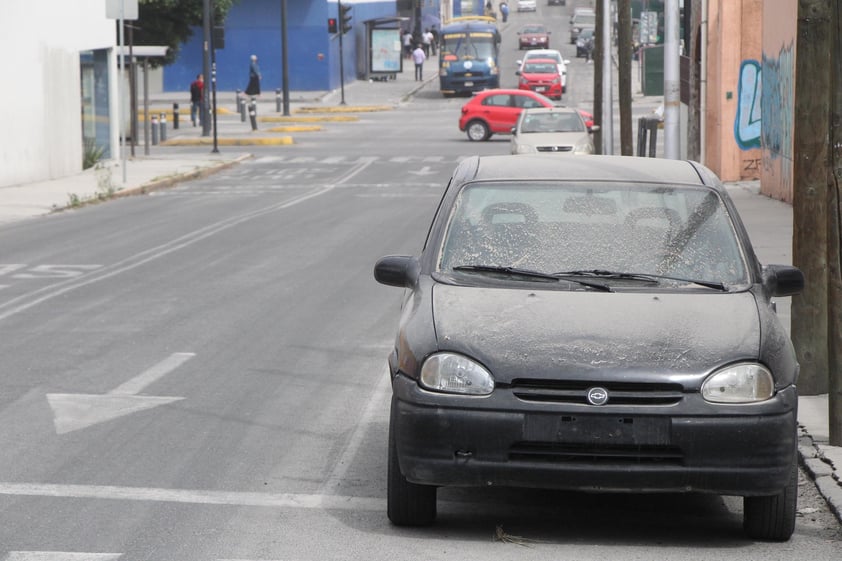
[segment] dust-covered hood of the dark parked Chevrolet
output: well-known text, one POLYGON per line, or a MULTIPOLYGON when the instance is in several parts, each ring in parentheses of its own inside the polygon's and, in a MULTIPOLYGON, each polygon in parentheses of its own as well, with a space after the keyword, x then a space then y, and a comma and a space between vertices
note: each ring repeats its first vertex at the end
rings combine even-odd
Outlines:
POLYGON ((698 377, 756 359, 760 320, 751 292, 591 292, 437 284, 441 350, 471 356, 498 383, 603 375, 698 377))

